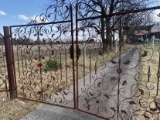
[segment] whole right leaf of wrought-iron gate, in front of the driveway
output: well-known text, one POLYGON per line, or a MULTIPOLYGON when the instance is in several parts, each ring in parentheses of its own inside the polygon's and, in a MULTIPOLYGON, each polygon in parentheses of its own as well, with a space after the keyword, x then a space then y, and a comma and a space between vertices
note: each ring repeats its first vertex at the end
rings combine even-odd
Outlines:
POLYGON ((77 5, 78 110, 111 120, 158 120, 159 47, 136 39, 125 45, 125 15, 99 16, 87 14, 85 9, 89 8, 83 3, 77 5), (109 33, 116 38, 108 37, 105 42, 109 34, 103 20, 107 17, 119 20, 109 33))

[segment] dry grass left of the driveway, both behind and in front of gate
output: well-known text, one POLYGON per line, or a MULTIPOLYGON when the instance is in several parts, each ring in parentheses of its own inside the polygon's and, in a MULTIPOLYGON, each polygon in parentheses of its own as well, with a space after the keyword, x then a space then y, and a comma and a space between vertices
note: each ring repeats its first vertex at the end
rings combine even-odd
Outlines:
MULTIPOLYGON (((123 52, 128 49, 130 46, 125 45, 123 46, 123 52)), ((36 48, 34 48, 36 49, 36 48)), ((14 48, 14 51, 16 53, 16 49, 14 48)), ((113 51, 108 51, 108 53, 102 55, 98 54, 98 49, 92 50, 87 49, 86 54, 86 66, 84 67, 84 58, 83 58, 83 52, 79 58, 78 61, 78 77, 81 78, 82 76, 88 74, 89 72, 92 72, 95 70, 95 63, 97 64, 97 67, 101 66, 103 63, 106 63, 111 60, 111 58, 117 56, 119 53, 113 51), (84 72, 85 69, 85 72, 84 72)), ((20 52, 19 52, 20 53, 20 52)), ((21 96, 20 93, 23 93, 23 90, 25 90, 26 97, 30 96, 31 91, 34 93, 37 93, 38 91, 44 90, 47 85, 51 85, 54 83, 55 86, 58 86, 56 89, 46 89, 46 94, 51 94, 51 92, 56 92, 59 88, 64 88, 67 86, 70 86, 73 82, 73 74, 72 72, 72 60, 69 58, 69 54, 60 55, 57 54, 52 57, 52 59, 58 59, 61 61, 62 68, 57 71, 42 71, 40 72, 40 69, 37 68, 36 64, 39 63, 36 59, 28 60, 20 59, 19 61, 15 62, 15 68, 16 68, 16 79, 17 79, 17 86, 18 86, 18 96, 21 96), (35 76, 33 77, 32 74, 28 74, 27 71, 32 69, 32 74, 35 76), (40 76, 40 77, 39 77, 40 76), (48 76, 54 77, 54 81, 51 81, 48 79, 48 76), (40 80, 41 79, 41 80, 40 80), (42 85, 40 85, 42 81, 42 85), (31 84, 30 84, 31 83, 31 84), (23 89, 23 88, 25 89, 23 89), (34 89, 34 90, 33 90, 34 89)), ((17 58, 16 58, 17 59, 17 58)), ((42 60, 42 65, 46 60, 50 59, 48 56, 45 56, 45 59, 42 60)), ((52 93, 52 94, 53 94, 52 93)), ((24 93, 23 93, 24 94, 24 93)), ((23 95, 22 95, 23 96, 23 95)), ((37 99, 37 98, 33 98, 37 99)), ((44 100, 45 101, 45 100, 44 100)), ((17 120, 26 115, 28 112, 34 110, 38 106, 38 103, 32 102, 32 101, 22 101, 20 99, 15 100, 6 100, 2 101, 0 103, 0 118, 2 120, 17 120)))

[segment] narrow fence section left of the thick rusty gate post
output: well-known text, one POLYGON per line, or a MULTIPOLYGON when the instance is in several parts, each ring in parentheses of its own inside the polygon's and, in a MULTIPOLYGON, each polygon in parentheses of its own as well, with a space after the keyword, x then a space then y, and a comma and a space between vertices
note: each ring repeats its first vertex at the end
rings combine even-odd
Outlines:
POLYGON ((0 34, 0 102, 9 97, 8 72, 5 55, 4 37, 0 34))

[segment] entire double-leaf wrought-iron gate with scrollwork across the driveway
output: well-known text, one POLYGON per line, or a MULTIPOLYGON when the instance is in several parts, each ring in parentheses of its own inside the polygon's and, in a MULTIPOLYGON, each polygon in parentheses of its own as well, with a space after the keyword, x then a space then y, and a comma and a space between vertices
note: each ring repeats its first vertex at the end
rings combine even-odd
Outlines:
POLYGON ((50 6, 37 16, 41 23, 35 20, 4 27, 10 46, 12 98, 77 109, 102 119, 159 119, 159 67, 153 68, 157 70, 156 84, 150 68, 159 62, 153 56, 158 47, 153 49, 144 42, 126 45, 122 19, 129 13, 160 7, 110 16, 86 16, 79 8, 77 4, 74 17, 72 6, 63 7, 65 14, 52 13, 55 6, 50 6), (119 40, 112 46, 103 42, 104 33, 97 30, 104 29, 104 18, 119 16, 114 30, 119 40), (147 72, 143 63, 147 63, 147 72))

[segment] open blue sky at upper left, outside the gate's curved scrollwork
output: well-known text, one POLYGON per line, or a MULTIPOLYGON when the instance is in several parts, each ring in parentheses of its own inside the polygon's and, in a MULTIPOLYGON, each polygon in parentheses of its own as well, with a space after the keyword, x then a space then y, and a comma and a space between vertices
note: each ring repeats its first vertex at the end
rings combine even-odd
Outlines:
POLYGON ((0 33, 3 26, 27 24, 45 11, 51 0, 1 0, 0 33))

